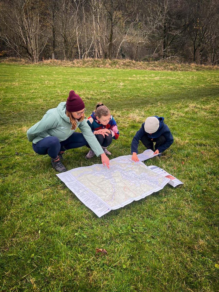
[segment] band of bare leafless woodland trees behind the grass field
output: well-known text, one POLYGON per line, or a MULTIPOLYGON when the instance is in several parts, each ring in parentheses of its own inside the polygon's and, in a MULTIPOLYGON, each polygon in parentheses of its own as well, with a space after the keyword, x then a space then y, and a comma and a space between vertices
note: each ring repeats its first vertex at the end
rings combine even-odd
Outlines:
POLYGON ((218 0, 0 0, 0 57, 217 65, 218 0))

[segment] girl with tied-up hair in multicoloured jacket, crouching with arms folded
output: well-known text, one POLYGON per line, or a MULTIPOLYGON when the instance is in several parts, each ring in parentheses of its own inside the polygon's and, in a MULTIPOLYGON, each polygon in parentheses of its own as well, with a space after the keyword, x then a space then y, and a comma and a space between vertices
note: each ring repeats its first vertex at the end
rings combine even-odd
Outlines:
MULTIPOLYGON (((108 107, 99 102, 96 105, 95 111, 87 119, 87 123, 91 127, 104 153, 111 155, 107 147, 112 143, 112 139, 118 139, 119 131, 114 118, 110 115, 108 107)), ((94 155, 95 153, 91 149, 85 157, 89 159, 94 157, 94 155)))

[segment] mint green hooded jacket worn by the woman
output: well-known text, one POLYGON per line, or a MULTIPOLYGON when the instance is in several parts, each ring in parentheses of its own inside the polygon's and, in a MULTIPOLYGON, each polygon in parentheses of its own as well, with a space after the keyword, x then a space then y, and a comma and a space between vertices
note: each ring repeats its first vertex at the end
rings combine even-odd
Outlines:
POLYGON ((36 144, 38 141, 49 136, 54 136, 57 137, 59 141, 64 141, 74 133, 77 127, 79 127, 94 153, 97 156, 104 153, 98 140, 92 133, 91 128, 88 126, 86 119, 81 122, 77 121, 76 129, 71 130, 72 124, 69 117, 66 116, 65 110, 66 102, 60 102, 58 107, 49 109, 43 118, 27 131, 28 141, 36 144))

